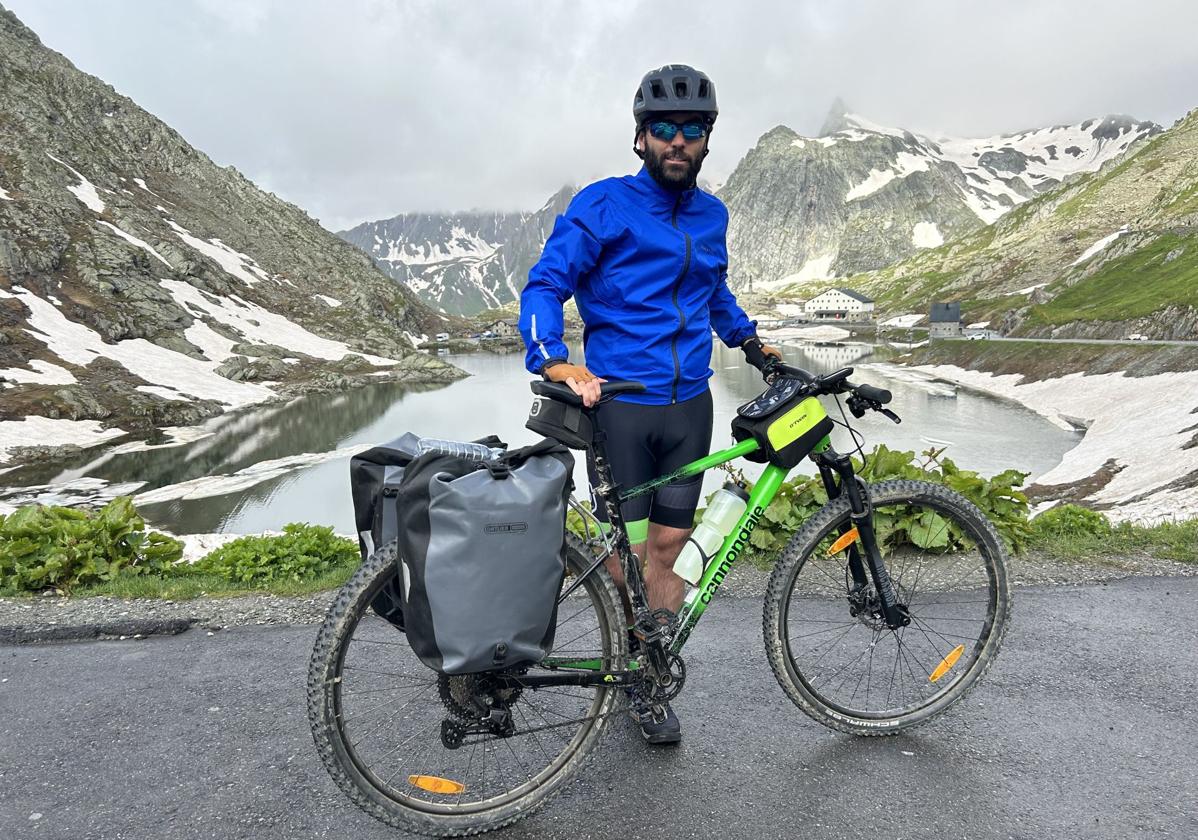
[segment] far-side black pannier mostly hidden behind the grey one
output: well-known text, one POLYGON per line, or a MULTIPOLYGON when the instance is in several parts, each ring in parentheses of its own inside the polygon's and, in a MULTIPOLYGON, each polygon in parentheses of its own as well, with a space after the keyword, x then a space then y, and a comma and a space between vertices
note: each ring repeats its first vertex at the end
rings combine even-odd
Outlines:
MULTIPOLYGON (((353 497, 353 520, 358 533, 362 561, 397 538, 395 494, 404 479, 404 470, 424 452, 446 448, 446 441, 429 441, 406 433, 389 443, 373 447, 350 459, 350 492, 353 497)), ((480 446, 489 457, 501 453, 506 445, 495 435, 473 443, 450 443, 468 454, 470 447, 480 446)), ((474 454, 479 454, 474 451, 474 454)), ((371 609, 399 629, 404 629, 403 593, 399 578, 389 581, 370 604, 371 609)))

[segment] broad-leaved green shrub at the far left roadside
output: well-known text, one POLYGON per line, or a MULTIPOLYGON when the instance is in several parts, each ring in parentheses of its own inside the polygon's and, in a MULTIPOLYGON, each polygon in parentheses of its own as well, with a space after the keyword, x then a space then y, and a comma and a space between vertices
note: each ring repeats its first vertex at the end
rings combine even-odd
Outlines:
POLYGON ((145 530, 121 496, 96 512, 30 504, 0 515, 0 587, 71 590, 117 575, 165 575, 183 556, 177 539, 145 530))

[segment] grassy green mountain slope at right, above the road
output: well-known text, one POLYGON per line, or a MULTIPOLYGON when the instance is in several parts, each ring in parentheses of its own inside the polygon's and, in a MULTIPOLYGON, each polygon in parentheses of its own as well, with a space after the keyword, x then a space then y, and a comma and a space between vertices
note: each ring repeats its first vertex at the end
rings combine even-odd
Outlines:
POLYGON ((1198 339, 1198 109, 987 228, 841 283, 890 314, 961 301, 1015 336, 1198 339))

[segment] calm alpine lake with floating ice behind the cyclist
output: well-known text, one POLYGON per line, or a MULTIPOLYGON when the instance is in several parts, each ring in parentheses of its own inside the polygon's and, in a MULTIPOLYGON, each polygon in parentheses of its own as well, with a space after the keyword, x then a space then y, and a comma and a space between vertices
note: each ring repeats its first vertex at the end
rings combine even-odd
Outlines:
MULTIPOLYGON (((893 351, 869 344, 782 344, 786 361, 813 373, 859 367, 858 383, 889 388, 894 424, 878 413, 846 415, 865 439, 916 454, 944 447, 957 466, 991 476, 1006 469, 1031 473, 1029 482, 1055 466, 1081 439, 1019 405, 937 382, 912 381, 885 362, 893 351)), ((577 348, 574 353, 580 355, 577 348)), ((343 393, 314 394, 222 415, 200 427, 188 442, 96 447, 66 461, 30 465, 2 478, 7 504, 86 503, 113 495, 134 496, 155 527, 186 533, 260 533, 288 522, 331 525, 353 533, 349 459, 363 447, 405 431, 423 437, 472 440, 498 435, 510 446, 536 441, 525 429, 532 394, 522 352, 477 351, 443 356, 471 376, 447 386, 375 385, 343 393)), ((713 448, 732 445, 730 423, 737 406, 764 385, 739 350, 714 342, 710 380, 715 406, 713 448)), ((835 401, 825 409, 841 419, 835 401)), ((837 427, 833 445, 852 451, 837 427)), ((586 470, 575 453, 575 495, 587 496, 586 470)), ((749 477, 762 466, 737 461, 749 477)), ((797 472, 811 472, 804 461, 797 472)), ((704 477, 704 496, 727 475, 704 477)))

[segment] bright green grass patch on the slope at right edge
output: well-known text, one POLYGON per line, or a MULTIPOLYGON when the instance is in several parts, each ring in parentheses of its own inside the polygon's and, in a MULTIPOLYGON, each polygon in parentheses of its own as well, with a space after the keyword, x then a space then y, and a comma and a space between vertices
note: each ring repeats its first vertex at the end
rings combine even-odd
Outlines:
POLYGON ((1131 254, 1111 260, 1084 280, 1028 313, 1031 324, 1125 321, 1170 304, 1198 307, 1198 237, 1163 234, 1131 254), (1164 256, 1184 253, 1172 262, 1164 256))

